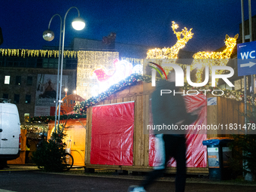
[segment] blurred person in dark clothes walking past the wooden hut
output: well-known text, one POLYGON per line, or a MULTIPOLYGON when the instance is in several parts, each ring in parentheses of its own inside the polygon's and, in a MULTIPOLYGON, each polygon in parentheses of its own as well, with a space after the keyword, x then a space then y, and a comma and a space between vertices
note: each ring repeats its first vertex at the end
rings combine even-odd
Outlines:
POLYGON ((175 125, 178 130, 154 130, 156 137, 156 151, 161 156, 161 162, 148 174, 139 186, 130 186, 128 192, 144 192, 150 184, 159 178, 166 170, 170 157, 174 157, 177 164, 175 177, 175 191, 183 192, 186 183, 186 139, 181 125, 189 125, 197 120, 201 108, 187 113, 185 102, 181 94, 164 94, 163 90, 179 91, 175 87, 175 72, 169 72, 168 80, 157 81, 156 89, 151 95, 151 111, 154 127, 165 124, 175 125))

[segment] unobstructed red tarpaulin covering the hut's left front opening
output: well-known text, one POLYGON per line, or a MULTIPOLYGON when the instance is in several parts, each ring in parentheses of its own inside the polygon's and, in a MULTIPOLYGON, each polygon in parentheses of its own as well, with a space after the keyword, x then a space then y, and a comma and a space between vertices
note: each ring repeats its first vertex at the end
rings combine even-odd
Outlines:
POLYGON ((93 107, 90 163, 133 166, 134 102, 93 107))

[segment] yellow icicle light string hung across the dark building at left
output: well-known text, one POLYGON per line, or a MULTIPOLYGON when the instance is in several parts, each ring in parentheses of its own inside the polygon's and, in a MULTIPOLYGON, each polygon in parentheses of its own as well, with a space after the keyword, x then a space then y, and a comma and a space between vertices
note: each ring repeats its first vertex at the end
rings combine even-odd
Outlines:
MULTIPOLYGON (((59 57, 59 50, 26 50, 26 49, 0 49, 0 55, 2 56, 21 56, 25 58, 26 56, 34 57, 59 57)), ((64 50, 64 58, 68 56, 69 58, 76 58, 78 56, 78 51, 75 50, 64 50)))

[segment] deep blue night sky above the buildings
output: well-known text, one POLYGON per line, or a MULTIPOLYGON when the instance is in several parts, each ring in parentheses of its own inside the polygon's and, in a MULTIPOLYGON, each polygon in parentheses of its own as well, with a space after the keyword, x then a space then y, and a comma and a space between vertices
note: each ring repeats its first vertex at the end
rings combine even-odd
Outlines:
MULTIPOLYGON (((247 0, 244 2, 247 20, 248 4, 247 0)), ((0 48, 58 47, 59 17, 54 17, 50 26, 56 35, 53 41, 44 41, 42 33, 54 14, 64 19, 72 6, 79 9, 86 28, 79 32, 72 29, 72 20, 78 13, 76 9, 69 11, 65 46, 75 37, 102 40, 103 36, 116 32, 118 43, 172 47, 176 37, 170 26, 175 21, 180 26, 177 31, 184 26, 193 28, 194 37, 184 50, 216 50, 224 46, 226 34, 233 37, 239 33, 242 20, 240 0, 6 0, 0 4, 0 27, 4 37, 0 48)), ((251 10, 252 16, 256 14, 254 0, 251 10)))

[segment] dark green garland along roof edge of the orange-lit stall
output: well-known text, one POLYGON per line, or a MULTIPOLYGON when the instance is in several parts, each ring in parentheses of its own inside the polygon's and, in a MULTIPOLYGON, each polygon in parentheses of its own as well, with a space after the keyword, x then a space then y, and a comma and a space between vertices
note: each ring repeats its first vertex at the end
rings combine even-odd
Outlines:
MULTIPOLYGON (((86 114, 63 114, 59 116, 59 120, 66 119, 80 119, 86 118, 86 114)), ((39 116, 39 117, 31 117, 30 122, 32 123, 48 123, 50 120, 55 120, 55 116, 39 116)))

